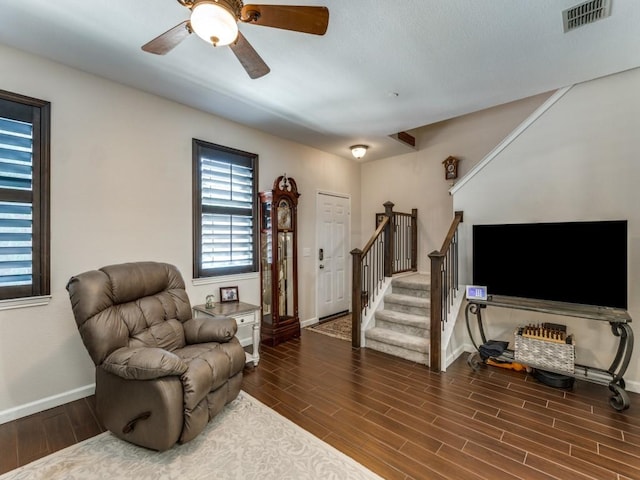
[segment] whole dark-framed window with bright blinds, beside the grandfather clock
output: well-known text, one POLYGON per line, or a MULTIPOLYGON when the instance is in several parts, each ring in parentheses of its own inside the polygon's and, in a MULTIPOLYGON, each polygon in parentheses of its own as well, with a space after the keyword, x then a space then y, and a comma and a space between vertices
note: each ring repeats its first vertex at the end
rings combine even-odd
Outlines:
POLYGON ((193 139, 193 275, 258 271, 258 156, 193 139))

